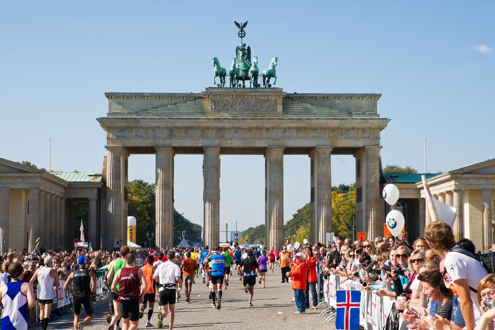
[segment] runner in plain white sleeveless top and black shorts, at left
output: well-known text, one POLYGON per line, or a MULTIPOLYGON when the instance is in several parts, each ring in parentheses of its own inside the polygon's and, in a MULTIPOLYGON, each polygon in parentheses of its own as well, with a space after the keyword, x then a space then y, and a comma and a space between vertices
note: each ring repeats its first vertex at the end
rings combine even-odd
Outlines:
POLYGON ((38 280, 38 303, 40 304, 40 320, 43 330, 46 330, 50 320, 51 304, 55 298, 55 291, 60 287, 58 273, 53 266, 53 259, 46 256, 43 260, 45 266, 36 270, 31 281, 38 280))

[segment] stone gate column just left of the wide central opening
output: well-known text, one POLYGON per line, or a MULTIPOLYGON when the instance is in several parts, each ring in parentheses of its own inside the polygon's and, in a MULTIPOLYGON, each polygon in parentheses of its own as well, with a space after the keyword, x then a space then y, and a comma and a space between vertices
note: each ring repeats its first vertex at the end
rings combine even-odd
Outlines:
POLYGON ((204 244, 220 242, 220 147, 203 147, 204 244))

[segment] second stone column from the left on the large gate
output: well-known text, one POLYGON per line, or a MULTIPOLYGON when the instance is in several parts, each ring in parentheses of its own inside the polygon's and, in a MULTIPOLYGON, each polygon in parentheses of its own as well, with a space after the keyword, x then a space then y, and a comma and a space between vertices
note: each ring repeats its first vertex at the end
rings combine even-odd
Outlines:
POLYGON ((158 247, 174 245, 174 148, 156 150, 155 242, 158 247))

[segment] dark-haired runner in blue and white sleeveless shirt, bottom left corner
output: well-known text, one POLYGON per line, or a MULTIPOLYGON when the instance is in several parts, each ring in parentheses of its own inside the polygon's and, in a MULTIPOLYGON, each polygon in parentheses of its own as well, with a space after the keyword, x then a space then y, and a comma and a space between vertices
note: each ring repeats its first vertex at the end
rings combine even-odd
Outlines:
POLYGON ((24 283, 24 269, 18 262, 6 269, 10 282, 2 283, 0 296, 2 307, 1 329, 28 329, 28 308, 36 305, 31 283, 24 283), (7 294, 8 292, 8 294, 7 294))

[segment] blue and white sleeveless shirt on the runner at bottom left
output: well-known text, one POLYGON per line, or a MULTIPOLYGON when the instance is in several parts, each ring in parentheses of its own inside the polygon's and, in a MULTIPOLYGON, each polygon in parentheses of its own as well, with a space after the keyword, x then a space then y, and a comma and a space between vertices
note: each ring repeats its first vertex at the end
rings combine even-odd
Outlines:
POLYGON ((1 298, 3 305, 0 327, 2 330, 28 329, 28 299, 21 292, 22 281, 5 284, 7 291, 1 298))

